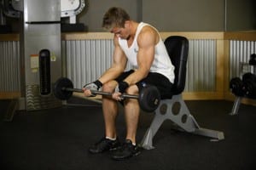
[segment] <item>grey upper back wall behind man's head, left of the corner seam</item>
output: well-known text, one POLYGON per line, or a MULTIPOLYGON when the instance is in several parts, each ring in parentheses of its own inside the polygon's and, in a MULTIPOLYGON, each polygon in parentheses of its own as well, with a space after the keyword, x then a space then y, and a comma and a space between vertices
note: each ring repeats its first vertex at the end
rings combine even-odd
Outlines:
POLYGON ((224 0, 88 0, 79 14, 88 31, 102 31, 104 12, 125 8, 133 20, 148 22, 160 31, 224 31, 224 0))

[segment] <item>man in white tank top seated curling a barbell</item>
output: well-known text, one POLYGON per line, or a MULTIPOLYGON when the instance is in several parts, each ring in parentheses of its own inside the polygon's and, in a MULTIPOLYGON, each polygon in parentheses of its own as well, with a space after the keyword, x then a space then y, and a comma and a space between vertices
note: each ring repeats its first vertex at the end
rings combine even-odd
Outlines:
POLYGON ((137 99, 121 99, 121 94, 139 94, 147 84, 156 86, 165 98, 174 81, 174 66, 167 54, 159 32, 143 22, 130 19, 122 8, 109 8, 104 14, 102 27, 113 33, 113 65, 95 82, 84 86, 84 95, 90 90, 113 93, 112 97, 102 96, 102 111, 105 121, 105 136, 89 151, 102 153, 113 151, 113 159, 121 160, 140 153, 136 134, 140 107, 137 99), (127 62, 135 70, 125 71, 127 62), (119 143, 115 120, 118 116, 118 101, 123 101, 126 122, 125 143, 119 143))

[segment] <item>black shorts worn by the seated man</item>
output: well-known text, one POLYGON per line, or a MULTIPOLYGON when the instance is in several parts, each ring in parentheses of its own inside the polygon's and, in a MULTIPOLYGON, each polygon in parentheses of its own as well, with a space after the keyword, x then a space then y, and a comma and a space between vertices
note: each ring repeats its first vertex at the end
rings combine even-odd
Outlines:
MULTIPOLYGON (((134 70, 125 71, 119 77, 117 77, 115 81, 122 82, 123 80, 125 80, 126 77, 128 77, 133 72, 134 70)), ((149 72, 148 77, 143 78, 143 80, 137 82, 136 85, 139 88, 139 90, 141 90, 146 85, 155 86, 160 91, 161 99, 168 99, 170 98, 170 96, 172 96, 172 82, 170 82, 167 77, 157 72, 149 72)))

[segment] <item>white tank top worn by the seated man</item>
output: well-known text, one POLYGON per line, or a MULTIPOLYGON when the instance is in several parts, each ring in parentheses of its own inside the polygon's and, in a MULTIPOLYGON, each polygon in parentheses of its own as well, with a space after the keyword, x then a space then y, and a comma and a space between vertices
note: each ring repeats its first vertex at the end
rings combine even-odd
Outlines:
MULTIPOLYGON (((140 31, 143 29, 143 26, 150 26, 150 25, 143 22, 141 22, 138 25, 136 35, 134 37, 134 40, 130 48, 128 47, 127 40, 119 37, 119 45, 125 52, 125 55, 128 61, 131 63, 131 65, 134 68, 137 68, 138 66, 137 65, 137 52, 138 52, 137 36, 139 35, 140 31)), ((157 31, 155 28, 154 30, 157 31)), ((174 66, 172 65, 171 59, 166 51, 166 46, 161 38, 154 48, 154 61, 150 67, 150 72, 158 72, 164 75, 165 77, 167 77, 170 80, 170 82, 172 83, 174 82, 174 66)))

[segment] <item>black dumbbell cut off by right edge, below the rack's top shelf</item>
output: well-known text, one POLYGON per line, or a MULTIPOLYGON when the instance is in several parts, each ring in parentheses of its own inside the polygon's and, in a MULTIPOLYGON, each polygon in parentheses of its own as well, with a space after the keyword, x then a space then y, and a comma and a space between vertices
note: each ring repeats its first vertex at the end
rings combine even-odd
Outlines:
POLYGON ((256 76, 247 72, 242 76, 242 90, 248 98, 256 98, 256 76))

